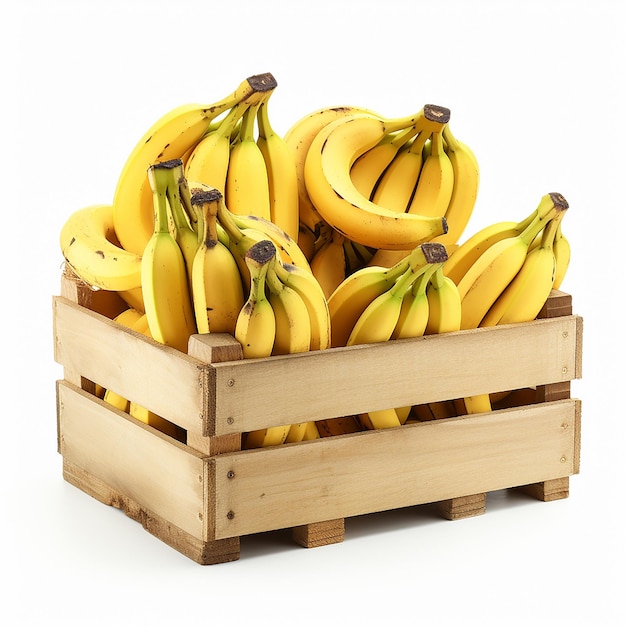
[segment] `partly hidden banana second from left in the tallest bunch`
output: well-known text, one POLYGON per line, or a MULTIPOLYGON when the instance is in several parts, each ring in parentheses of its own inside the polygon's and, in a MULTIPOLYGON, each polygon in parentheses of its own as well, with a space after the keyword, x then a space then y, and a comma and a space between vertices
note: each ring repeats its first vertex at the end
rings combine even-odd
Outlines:
POLYGON ((185 165, 187 180, 205 183, 225 193, 232 136, 237 122, 249 106, 248 102, 237 103, 221 123, 195 145, 185 165))

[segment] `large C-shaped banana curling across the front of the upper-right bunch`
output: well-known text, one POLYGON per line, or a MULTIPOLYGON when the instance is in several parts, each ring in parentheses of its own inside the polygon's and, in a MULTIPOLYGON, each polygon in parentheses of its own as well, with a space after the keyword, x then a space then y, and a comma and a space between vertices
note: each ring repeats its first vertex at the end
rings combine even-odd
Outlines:
POLYGON ((409 120, 349 115, 323 128, 309 148, 305 181, 324 220, 349 239, 374 248, 411 249, 446 232, 445 218, 390 211, 360 194, 350 177, 356 159, 409 120))

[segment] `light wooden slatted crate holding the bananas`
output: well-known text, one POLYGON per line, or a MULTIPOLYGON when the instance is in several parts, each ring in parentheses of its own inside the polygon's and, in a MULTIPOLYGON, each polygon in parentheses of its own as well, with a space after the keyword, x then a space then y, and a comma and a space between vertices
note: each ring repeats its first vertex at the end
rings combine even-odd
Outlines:
POLYGON ((526 324, 258 360, 222 334, 192 337, 189 354, 164 347, 111 321, 120 306, 68 275, 53 298, 63 476, 198 563, 238 559, 240 537, 269 530, 313 547, 377 511, 438 503, 458 519, 509 488, 564 498, 579 471, 582 319, 566 293, 526 324), (179 435, 112 408, 99 386, 179 435), (489 413, 241 449, 268 426, 507 390, 489 413))

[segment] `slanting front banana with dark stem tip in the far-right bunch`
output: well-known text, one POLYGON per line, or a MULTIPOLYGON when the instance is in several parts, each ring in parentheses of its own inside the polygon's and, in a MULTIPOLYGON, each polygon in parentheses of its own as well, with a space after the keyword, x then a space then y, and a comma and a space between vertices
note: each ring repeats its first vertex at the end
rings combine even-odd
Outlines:
POLYGON ((521 269, 533 239, 554 214, 567 207, 561 194, 542 197, 537 216, 522 233, 503 239, 487 250, 458 283, 462 302, 461 329, 479 326, 498 296, 521 269))

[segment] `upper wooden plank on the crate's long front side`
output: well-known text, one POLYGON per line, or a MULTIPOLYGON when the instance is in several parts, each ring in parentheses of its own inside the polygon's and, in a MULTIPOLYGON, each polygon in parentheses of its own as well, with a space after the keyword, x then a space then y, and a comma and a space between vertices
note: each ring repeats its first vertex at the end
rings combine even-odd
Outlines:
POLYGON ((571 380, 577 325, 567 316, 216 363, 216 433, 571 380))

